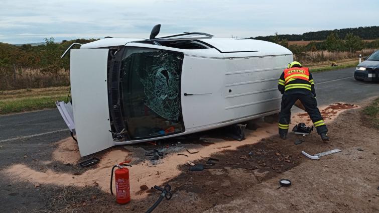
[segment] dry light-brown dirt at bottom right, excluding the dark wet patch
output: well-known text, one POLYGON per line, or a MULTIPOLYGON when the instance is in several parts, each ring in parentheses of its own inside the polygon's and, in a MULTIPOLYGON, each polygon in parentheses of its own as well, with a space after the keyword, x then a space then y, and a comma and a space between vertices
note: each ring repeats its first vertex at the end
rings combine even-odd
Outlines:
POLYGON ((320 160, 302 157, 297 167, 206 212, 378 212, 379 131, 361 125, 360 111, 347 111, 329 125, 332 140, 328 144, 317 137, 308 137, 302 145, 291 144, 294 138, 284 142, 295 153, 335 148, 342 152, 320 160), (292 186, 276 189, 280 178, 291 179, 292 186))

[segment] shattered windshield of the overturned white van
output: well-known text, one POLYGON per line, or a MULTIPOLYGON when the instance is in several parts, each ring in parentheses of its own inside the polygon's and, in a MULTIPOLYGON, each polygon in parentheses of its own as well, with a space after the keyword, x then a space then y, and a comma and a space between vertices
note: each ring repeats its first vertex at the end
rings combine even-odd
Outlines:
POLYGON ((127 47, 120 72, 125 126, 132 139, 184 131, 180 75, 183 54, 127 47))

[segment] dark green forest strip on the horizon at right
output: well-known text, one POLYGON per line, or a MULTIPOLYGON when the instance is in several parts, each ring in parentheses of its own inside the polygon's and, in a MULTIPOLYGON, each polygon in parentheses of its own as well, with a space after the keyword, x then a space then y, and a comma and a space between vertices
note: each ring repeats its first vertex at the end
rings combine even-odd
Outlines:
MULTIPOLYGON (((287 39, 288 41, 314 41, 325 40, 330 33, 336 33, 340 38, 345 38, 346 34, 353 33, 361 39, 377 39, 379 38, 379 26, 372 27, 358 27, 358 28, 344 28, 335 30, 322 30, 317 32, 308 32, 303 34, 285 34, 278 35, 279 39, 287 39)), ((273 41, 274 36, 257 36, 250 39, 258 39, 264 41, 273 41)))

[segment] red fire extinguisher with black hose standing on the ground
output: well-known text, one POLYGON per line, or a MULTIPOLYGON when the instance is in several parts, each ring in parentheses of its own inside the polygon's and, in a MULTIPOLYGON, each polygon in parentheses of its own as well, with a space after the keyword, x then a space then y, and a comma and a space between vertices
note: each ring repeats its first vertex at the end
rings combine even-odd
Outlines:
POLYGON ((115 167, 118 167, 114 171, 114 179, 116 182, 116 201, 119 204, 125 204, 131 201, 130 194, 130 184, 129 184, 129 169, 125 166, 130 166, 130 161, 124 161, 112 167, 112 173, 110 174, 110 193, 113 195, 112 191, 112 180, 113 180, 113 170, 115 167))

